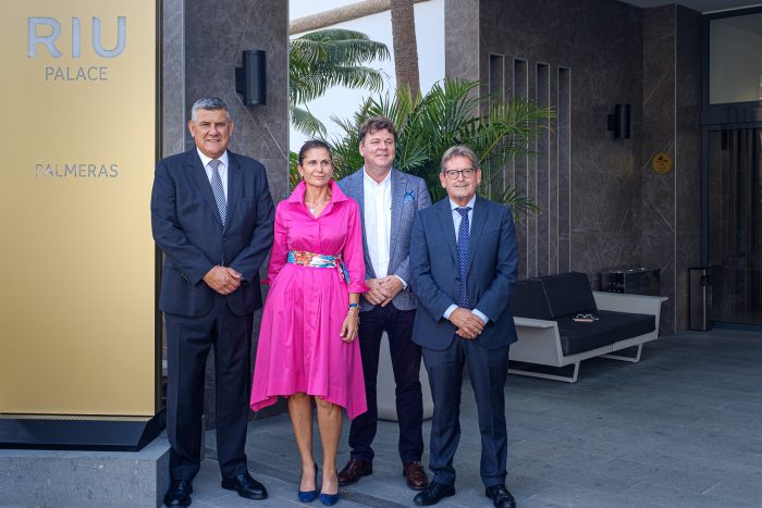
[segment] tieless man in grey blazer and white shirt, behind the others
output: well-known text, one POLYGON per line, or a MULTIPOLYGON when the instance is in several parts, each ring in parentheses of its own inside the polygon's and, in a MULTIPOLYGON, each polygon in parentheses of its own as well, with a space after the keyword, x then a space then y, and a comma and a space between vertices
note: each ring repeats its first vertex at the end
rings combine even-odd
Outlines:
POLYGON ((416 299, 410 293, 410 230, 418 210, 431 205, 426 183, 401 173, 394 163, 396 129, 389 119, 368 119, 359 132, 365 165, 339 182, 360 206, 366 284, 360 306, 359 344, 368 411, 352 422, 349 461, 339 473, 340 485, 351 485, 373 472, 371 444, 378 424, 376 386, 381 336, 386 332, 396 384, 400 422, 398 451, 410 488, 428 485, 420 459, 423 454, 423 401, 420 387, 420 348, 413 343, 416 299))

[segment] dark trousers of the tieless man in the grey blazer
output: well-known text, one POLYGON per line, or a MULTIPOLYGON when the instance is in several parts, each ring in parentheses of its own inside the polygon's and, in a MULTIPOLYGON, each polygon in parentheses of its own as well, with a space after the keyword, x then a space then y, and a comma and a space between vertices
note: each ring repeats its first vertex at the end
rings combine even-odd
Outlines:
POLYGON ((378 429, 377 380, 381 336, 386 332, 396 384, 395 399, 400 423, 400 458, 403 462, 420 460, 423 455, 423 396, 420 388, 420 347, 410 339, 415 310, 398 310, 392 303, 376 306, 360 313, 358 340, 362 358, 368 411, 352 421, 349 428, 351 456, 371 462, 370 446, 378 429))

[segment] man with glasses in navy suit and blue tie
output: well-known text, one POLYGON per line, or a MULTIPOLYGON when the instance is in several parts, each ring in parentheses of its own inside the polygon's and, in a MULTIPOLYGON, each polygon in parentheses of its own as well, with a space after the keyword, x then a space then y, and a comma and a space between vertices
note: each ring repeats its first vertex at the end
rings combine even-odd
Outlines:
POLYGON ((416 505, 455 494, 453 457, 464 364, 476 396, 481 432, 481 480, 495 507, 514 508, 505 487, 507 432, 504 386, 508 346, 516 340, 511 293, 518 247, 511 210, 477 196, 481 170, 472 150, 452 147, 442 157, 447 197, 421 210, 413 225, 410 285, 422 310, 413 339, 421 346, 434 414, 429 486, 416 505))

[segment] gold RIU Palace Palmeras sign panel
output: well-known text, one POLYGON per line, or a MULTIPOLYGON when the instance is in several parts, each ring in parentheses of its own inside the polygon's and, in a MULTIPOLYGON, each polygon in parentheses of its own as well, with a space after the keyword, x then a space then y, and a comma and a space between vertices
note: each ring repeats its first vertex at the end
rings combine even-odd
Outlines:
POLYGON ((152 416, 157 3, 0 5, 0 413, 152 416))

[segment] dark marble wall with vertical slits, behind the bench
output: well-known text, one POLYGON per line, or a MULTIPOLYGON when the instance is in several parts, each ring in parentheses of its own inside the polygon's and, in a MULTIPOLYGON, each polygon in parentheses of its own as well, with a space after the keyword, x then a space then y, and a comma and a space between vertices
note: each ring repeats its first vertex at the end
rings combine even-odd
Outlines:
POLYGON ((482 0, 479 8, 478 78, 489 78, 490 53, 503 54, 507 94, 558 112, 532 147, 538 154, 518 164, 527 174, 514 176, 542 208, 521 226, 521 275, 572 269, 597 281, 601 270, 631 263, 639 150, 635 138, 615 140, 606 117, 614 104, 632 104, 638 129, 642 11, 609 0, 482 0))

